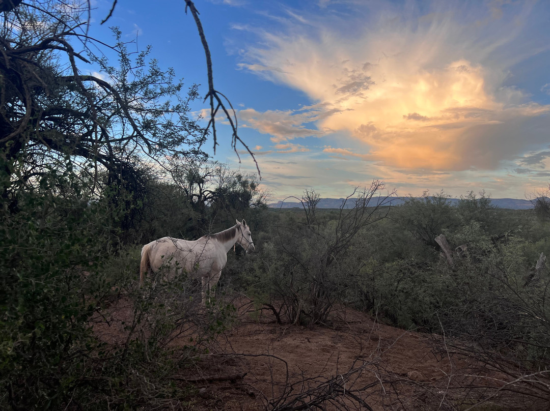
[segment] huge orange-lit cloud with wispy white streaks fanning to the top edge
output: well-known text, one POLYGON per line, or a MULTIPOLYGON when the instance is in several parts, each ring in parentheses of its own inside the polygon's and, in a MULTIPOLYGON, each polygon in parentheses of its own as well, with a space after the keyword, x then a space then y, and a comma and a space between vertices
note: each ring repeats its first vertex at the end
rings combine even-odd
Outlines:
MULTIPOLYGON (((532 3, 364 4, 325 2, 318 14, 300 13, 307 24, 257 31, 261 43, 240 67, 323 108, 246 113, 250 126, 274 142, 344 132, 368 159, 394 169, 496 170, 545 143, 550 105, 510 77, 515 64, 550 47, 532 3)), ((324 149, 354 155, 342 150, 324 149)))

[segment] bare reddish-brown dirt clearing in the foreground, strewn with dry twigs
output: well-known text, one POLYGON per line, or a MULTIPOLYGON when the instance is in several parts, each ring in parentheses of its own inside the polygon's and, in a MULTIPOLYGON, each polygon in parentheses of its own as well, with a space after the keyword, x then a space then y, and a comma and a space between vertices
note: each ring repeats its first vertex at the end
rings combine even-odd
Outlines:
MULTIPOLYGON (((330 325, 303 327, 258 315, 246 298, 235 306, 237 324, 179 375, 197 388, 184 409, 466 410, 480 398, 488 399, 472 409, 550 409, 550 402, 510 393, 511 377, 452 353, 441 336, 380 324, 349 308, 335 310, 330 325), (320 398, 324 408, 307 408, 320 398)), ((120 321, 132 310, 127 299, 112 310, 111 324, 95 330, 120 343, 120 321)))

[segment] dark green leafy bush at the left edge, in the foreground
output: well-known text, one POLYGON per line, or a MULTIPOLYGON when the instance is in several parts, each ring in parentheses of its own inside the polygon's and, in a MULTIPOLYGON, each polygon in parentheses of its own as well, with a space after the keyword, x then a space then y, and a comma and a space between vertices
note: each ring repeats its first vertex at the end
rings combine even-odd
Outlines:
POLYGON ((50 170, 34 190, 13 191, 17 214, 0 210, 0 384, 14 408, 67 405, 86 373, 87 321, 106 284, 98 268, 116 213, 86 201, 86 188, 69 171, 50 170))

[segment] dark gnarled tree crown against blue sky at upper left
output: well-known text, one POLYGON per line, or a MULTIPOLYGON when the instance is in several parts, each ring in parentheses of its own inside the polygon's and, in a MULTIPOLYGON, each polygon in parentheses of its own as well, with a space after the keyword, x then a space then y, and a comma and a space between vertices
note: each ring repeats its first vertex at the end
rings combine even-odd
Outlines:
POLYGON ((111 201, 129 211, 120 220, 127 229, 133 204, 144 200, 146 160, 175 154, 204 159, 206 132, 190 118, 197 86, 185 92, 172 69, 149 58, 150 48, 133 58, 117 29, 108 51, 117 55, 118 67, 97 57, 92 47, 98 43, 83 29, 86 11, 47 1, 2 14, 0 158, 10 178, 0 195, 17 212, 12 184, 33 185, 64 159, 93 181, 97 196, 117 191, 111 201), (87 55, 75 51, 73 40, 87 55), (108 79, 81 74, 77 60, 97 63, 108 79))

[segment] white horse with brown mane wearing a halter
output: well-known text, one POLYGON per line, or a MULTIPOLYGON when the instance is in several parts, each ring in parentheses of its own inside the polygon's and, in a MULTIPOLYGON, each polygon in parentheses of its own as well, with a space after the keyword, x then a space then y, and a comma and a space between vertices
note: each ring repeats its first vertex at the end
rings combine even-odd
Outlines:
POLYGON ((201 278, 202 303, 205 304, 206 293, 218 284, 227 263, 227 252, 236 243, 246 252, 254 251, 250 227, 245 220, 241 223, 237 220, 233 227, 196 241, 172 237, 151 241, 141 249, 140 286, 144 283, 146 271, 155 273, 163 264, 178 265, 178 268, 201 278))

